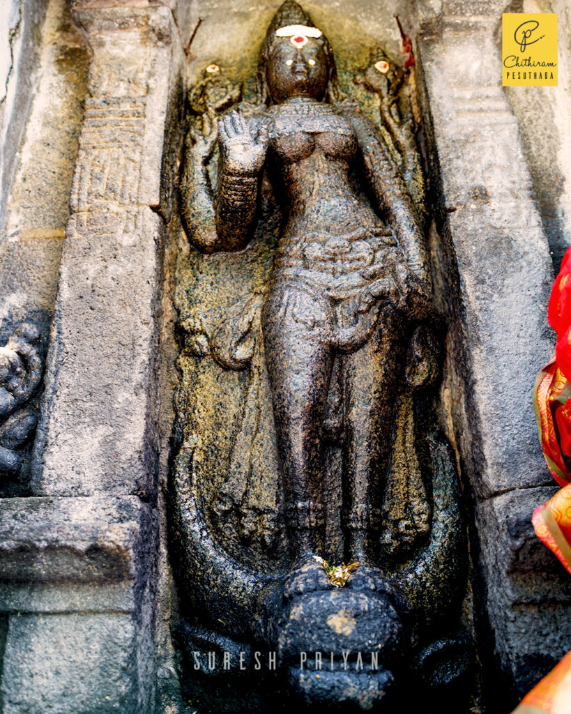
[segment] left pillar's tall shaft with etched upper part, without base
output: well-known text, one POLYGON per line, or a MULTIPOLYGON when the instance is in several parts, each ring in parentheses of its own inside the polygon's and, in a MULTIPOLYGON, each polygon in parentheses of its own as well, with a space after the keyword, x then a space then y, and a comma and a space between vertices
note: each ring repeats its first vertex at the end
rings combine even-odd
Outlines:
POLYGON ((77 12, 94 48, 91 96, 32 489, 38 495, 136 493, 154 500, 163 250, 157 211, 167 213, 162 206, 169 205, 172 190, 161 187, 161 163, 164 137, 176 122, 176 30, 164 8, 77 12))

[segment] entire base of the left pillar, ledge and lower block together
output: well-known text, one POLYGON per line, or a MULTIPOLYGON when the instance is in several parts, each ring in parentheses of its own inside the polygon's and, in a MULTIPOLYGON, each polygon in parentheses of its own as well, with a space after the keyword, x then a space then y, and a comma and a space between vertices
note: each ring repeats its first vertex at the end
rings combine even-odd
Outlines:
POLYGON ((0 503, 3 712, 152 710, 157 525, 134 496, 0 503))

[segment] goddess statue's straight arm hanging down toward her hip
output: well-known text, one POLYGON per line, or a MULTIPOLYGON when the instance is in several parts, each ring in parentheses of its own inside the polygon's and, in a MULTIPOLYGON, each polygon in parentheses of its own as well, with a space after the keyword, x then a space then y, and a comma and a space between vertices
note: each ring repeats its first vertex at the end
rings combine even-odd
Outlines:
POLYGON ((430 288, 428 251, 423 229, 416 219, 413 201, 405 183, 383 149, 383 137, 378 127, 363 114, 351 112, 345 116, 357 134, 363 169, 375 199, 375 208, 395 231, 410 270, 421 278, 426 288, 430 288))

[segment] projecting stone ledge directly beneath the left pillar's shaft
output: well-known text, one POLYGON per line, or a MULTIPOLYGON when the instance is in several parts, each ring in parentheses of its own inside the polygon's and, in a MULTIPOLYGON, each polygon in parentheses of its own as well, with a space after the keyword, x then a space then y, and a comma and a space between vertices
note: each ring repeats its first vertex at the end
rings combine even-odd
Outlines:
POLYGON ((152 509, 133 496, 6 498, 0 583, 137 583, 155 537, 152 509))

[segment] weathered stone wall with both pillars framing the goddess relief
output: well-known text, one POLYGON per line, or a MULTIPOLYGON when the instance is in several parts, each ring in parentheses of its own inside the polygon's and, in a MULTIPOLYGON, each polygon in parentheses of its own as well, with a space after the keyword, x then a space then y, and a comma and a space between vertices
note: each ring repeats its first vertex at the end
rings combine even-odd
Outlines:
MULTIPOLYGON (((277 5, 12 8, 0 49, 0 343, 36 324, 46 367, 33 453, 0 484, 2 712, 185 711, 163 505, 183 90, 211 61, 239 74, 277 5)), ((415 41, 433 263, 448 296, 444 418, 470 521, 485 711, 499 714, 571 647, 570 583, 530 525, 554 491, 530 394, 553 346, 552 259, 571 241, 569 68, 557 91, 506 92, 501 3, 373 6, 306 9, 341 61, 379 38, 398 54, 393 14, 415 41), (546 111, 550 130, 538 131, 546 111)), ((550 7, 564 56, 567 10, 550 7)))

